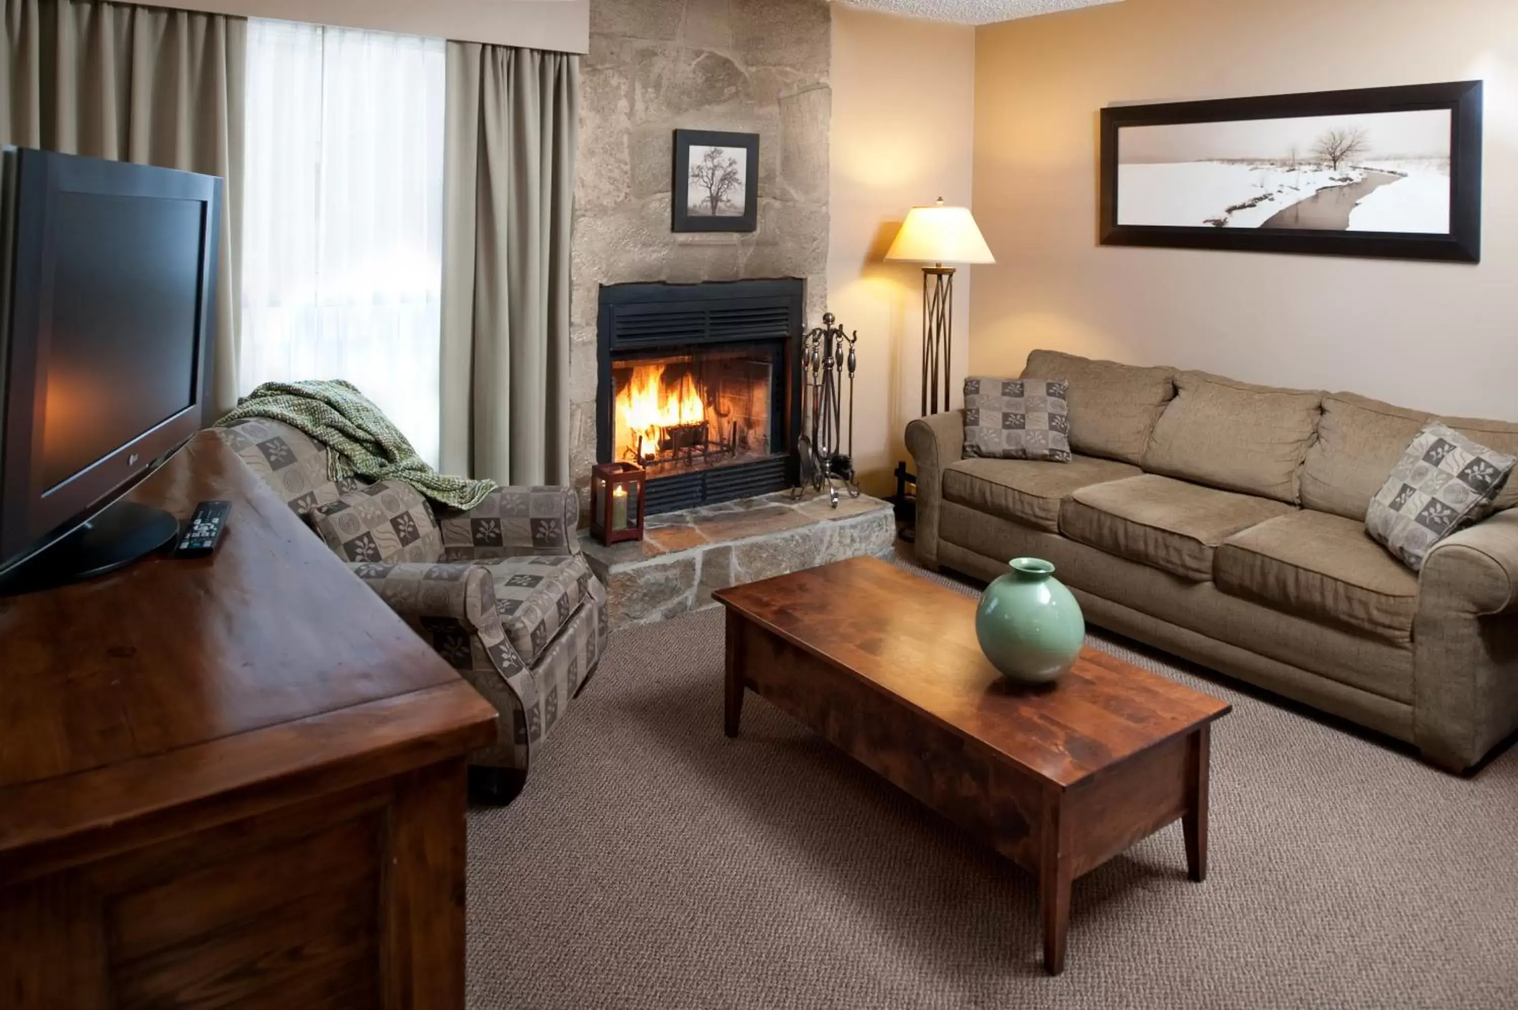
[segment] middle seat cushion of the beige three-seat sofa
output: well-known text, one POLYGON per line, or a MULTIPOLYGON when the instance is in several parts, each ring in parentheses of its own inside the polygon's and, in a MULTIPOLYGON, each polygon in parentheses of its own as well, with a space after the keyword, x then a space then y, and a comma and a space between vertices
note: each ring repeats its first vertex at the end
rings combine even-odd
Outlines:
POLYGON ((1060 532, 1108 554, 1207 582, 1219 544, 1289 512, 1292 506, 1281 501, 1143 474, 1076 491, 1060 509, 1060 532))

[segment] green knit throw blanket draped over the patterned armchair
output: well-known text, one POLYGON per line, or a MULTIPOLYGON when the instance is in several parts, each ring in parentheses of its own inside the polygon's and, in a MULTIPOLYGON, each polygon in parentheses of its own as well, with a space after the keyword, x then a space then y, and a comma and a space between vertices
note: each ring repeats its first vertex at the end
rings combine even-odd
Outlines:
POLYGON ((342 380, 264 383, 216 424, 225 428, 249 418, 282 421, 325 445, 332 480, 399 480, 425 498, 465 510, 478 506, 496 488, 493 480, 439 474, 422 462, 378 407, 342 380))

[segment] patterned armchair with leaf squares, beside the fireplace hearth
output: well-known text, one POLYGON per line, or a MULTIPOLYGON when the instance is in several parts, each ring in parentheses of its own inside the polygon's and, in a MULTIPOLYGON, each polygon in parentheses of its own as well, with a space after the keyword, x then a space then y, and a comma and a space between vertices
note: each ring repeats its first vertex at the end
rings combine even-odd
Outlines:
POLYGON ((334 483, 326 448, 270 419, 219 430, 358 579, 499 712, 471 756, 478 796, 509 800, 530 755, 595 670, 606 589, 575 542, 569 488, 501 488, 469 512, 401 483, 334 483))

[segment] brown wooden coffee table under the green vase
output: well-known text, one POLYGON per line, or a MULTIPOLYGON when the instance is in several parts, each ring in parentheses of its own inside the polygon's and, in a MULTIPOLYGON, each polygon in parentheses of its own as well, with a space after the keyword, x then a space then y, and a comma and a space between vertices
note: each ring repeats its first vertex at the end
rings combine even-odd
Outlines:
POLYGON ((1179 819, 1207 876, 1213 720, 1230 706, 1085 650, 1019 688, 975 638, 975 600, 874 557, 713 594, 727 608, 724 728, 744 690, 1038 875, 1044 967, 1064 971, 1070 882, 1179 819))

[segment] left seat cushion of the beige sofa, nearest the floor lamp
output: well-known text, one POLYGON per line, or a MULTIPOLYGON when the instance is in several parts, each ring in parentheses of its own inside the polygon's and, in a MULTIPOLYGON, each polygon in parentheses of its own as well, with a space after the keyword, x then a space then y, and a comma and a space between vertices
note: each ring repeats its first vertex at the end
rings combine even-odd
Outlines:
POLYGON ((1069 463, 967 459, 944 469, 943 495, 976 512, 1058 533, 1061 498, 1138 474, 1137 466, 1090 456, 1073 456, 1069 463))

